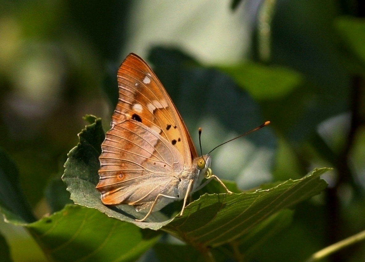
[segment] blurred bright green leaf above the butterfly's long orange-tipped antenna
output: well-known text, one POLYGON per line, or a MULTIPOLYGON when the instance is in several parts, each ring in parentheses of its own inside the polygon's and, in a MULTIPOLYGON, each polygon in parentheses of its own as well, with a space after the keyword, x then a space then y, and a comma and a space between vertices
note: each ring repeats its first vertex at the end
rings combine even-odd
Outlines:
POLYGON ((283 97, 303 83, 301 74, 281 66, 247 62, 220 69, 257 100, 283 97))

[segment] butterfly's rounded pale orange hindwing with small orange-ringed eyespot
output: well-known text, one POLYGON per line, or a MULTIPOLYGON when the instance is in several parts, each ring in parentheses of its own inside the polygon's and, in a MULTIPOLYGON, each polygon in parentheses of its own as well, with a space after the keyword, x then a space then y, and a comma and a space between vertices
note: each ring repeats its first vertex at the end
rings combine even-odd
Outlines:
POLYGON ((106 134, 102 150, 97 189, 104 204, 153 201, 160 193, 156 190, 159 185, 176 184, 178 178, 172 174, 183 169, 182 155, 177 149, 133 119, 114 124, 106 134))

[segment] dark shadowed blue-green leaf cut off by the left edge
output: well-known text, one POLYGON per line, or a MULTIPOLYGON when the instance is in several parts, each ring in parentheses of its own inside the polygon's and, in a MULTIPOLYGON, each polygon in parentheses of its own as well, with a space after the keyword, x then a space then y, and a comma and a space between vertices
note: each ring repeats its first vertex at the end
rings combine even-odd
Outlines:
POLYGON ((14 223, 37 220, 20 188, 18 169, 1 148, 0 181, 0 211, 3 211, 5 219, 14 221, 14 223))

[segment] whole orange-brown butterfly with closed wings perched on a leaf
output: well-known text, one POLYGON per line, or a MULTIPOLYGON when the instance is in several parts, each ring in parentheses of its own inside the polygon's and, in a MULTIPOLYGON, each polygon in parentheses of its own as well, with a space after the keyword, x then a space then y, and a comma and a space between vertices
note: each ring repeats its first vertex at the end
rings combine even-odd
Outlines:
MULTIPOLYGON (((133 205, 158 211, 184 200, 216 179, 209 154, 198 156, 188 129, 160 80, 142 58, 129 54, 118 70, 119 101, 99 157, 99 183, 105 205, 133 205), (202 184, 204 178, 207 180, 202 184)), ((201 132, 201 130, 200 130, 201 132)))

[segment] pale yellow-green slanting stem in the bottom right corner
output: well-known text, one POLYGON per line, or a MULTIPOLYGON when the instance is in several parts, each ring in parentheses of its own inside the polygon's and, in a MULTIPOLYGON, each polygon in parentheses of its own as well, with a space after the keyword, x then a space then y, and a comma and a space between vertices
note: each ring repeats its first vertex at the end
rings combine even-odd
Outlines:
POLYGON ((307 259, 306 262, 318 261, 319 259, 327 257, 328 255, 340 250, 341 248, 350 246, 351 244, 360 242, 362 240, 365 240, 365 230, 356 235, 343 239, 335 244, 332 244, 331 246, 325 247, 322 250, 319 250, 318 252, 314 253, 309 259, 307 259))

